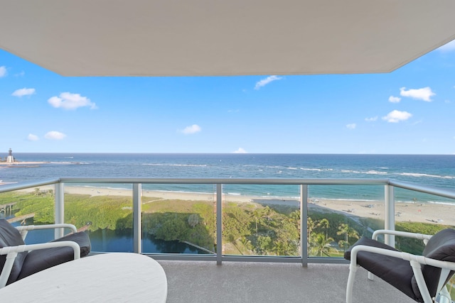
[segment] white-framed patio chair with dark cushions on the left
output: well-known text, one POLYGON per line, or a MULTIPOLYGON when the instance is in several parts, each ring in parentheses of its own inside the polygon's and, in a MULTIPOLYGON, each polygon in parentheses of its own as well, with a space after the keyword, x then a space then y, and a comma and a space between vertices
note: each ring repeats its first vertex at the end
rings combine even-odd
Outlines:
POLYGON ((0 219, 0 288, 52 266, 84 257, 90 253, 90 238, 72 224, 14 227, 0 219), (70 228, 70 233, 48 243, 26 245, 28 231, 70 228))

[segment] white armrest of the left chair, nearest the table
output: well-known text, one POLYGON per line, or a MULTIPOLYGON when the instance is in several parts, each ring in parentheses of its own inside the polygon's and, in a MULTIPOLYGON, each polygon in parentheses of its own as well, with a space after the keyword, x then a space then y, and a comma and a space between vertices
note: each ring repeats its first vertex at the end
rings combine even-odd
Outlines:
POLYGON ((0 274, 0 289, 6 285, 8 282, 9 274, 13 268, 14 259, 18 253, 29 250, 38 250, 45 248, 57 248, 69 246, 74 250, 74 260, 80 259, 80 247, 79 244, 73 241, 60 241, 60 242, 49 242, 49 243, 40 243, 40 244, 29 244, 29 245, 20 245, 20 246, 6 246, 0 248, 0 255, 6 255, 5 264, 3 270, 0 274))

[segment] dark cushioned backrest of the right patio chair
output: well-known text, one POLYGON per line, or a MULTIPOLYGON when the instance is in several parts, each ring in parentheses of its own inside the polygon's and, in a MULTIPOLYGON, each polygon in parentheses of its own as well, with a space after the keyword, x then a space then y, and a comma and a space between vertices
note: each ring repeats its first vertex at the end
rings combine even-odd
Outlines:
MULTIPOLYGON (((427 246, 425 246, 422 255, 434 260, 455 262, 455 229, 447 228, 432 236, 432 238, 429 239, 427 246)), ((429 265, 422 265, 422 274, 427 283, 429 294, 434 297, 437 292, 441 269, 429 265)), ((449 282, 452 275, 454 275, 454 271, 450 272, 446 282, 449 282)), ((417 287, 417 282, 414 277, 412 277, 412 289, 419 297, 419 287, 417 287)))

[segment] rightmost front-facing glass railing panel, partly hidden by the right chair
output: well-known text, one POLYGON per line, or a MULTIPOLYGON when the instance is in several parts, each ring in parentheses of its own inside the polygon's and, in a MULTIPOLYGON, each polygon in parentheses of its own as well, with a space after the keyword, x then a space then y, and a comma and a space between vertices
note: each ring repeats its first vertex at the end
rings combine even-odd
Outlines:
POLYGON ((309 257, 343 257, 360 236, 384 228, 384 187, 311 185, 307 241, 309 257))

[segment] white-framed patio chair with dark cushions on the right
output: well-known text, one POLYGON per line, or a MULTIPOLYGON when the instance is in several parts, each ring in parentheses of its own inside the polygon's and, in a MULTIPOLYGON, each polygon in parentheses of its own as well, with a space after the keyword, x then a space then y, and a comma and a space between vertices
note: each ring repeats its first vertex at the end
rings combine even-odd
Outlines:
POLYGON ((378 230, 373 238, 360 238, 346 250, 344 258, 350 260, 346 302, 352 302, 355 272, 358 266, 407 294, 417 302, 451 302, 446 289, 455 271, 455 229, 447 228, 434 236, 404 231, 378 230), (378 241, 378 235, 389 234, 421 239, 425 243, 422 255, 403 253, 378 241))

